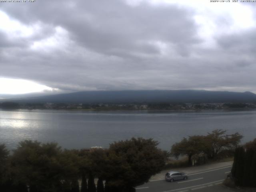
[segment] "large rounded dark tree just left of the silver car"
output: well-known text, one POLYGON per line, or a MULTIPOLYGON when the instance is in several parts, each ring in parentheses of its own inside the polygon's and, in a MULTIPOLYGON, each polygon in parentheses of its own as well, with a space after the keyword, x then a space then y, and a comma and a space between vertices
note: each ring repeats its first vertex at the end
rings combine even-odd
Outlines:
MULTIPOLYGON (((165 164, 164 153, 152 138, 132 138, 110 144, 107 151, 106 185, 112 191, 134 190, 148 182, 165 164)), ((107 191, 107 190, 106 190, 107 191)))

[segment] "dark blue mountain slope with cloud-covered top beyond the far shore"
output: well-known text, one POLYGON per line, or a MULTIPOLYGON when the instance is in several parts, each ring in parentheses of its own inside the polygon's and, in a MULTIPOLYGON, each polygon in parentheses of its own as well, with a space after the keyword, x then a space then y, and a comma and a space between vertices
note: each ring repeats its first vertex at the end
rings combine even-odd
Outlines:
POLYGON ((9 101, 30 103, 256 102, 256 94, 206 90, 84 91, 33 98, 15 98, 9 101))

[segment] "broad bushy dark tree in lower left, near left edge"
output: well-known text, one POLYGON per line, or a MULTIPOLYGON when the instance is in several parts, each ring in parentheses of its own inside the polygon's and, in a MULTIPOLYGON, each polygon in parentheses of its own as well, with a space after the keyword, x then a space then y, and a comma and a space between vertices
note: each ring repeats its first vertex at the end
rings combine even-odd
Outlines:
POLYGON ((15 182, 30 186, 30 192, 56 190, 60 186, 64 168, 58 161, 61 152, 56 143, 20 142, 12 156, 15 182))

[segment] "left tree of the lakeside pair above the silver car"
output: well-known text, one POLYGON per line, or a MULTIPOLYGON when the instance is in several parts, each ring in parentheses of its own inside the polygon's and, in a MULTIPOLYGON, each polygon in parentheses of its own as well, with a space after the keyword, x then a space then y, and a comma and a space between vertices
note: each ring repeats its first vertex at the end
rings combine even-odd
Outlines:
POLYGON ((204 136, 189 136, 183 138, 181 142, 172 145, 172 156, 179 158, 180 155, 188 157, 188 165, 192 165, 192 156, 200 154, 206 148, 204 136))

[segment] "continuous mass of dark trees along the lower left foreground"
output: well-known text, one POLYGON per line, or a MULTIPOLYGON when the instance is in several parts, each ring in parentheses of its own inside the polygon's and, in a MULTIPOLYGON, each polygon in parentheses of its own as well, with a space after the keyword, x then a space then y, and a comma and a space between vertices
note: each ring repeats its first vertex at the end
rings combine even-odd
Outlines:
POLYGON ((132 138, 104 150, 62 150, 57 143, 25 140, 10 154, 1 144, 0 191, 132 192, 164 167, 157 145, 132 138))

